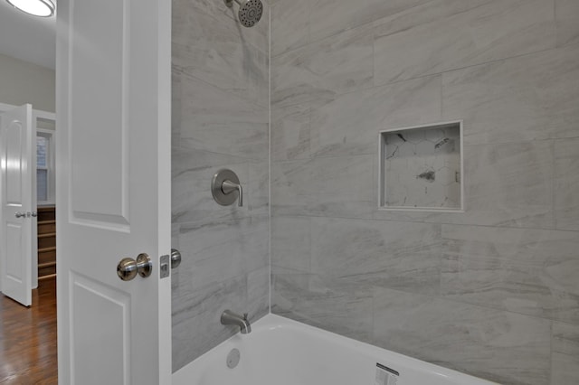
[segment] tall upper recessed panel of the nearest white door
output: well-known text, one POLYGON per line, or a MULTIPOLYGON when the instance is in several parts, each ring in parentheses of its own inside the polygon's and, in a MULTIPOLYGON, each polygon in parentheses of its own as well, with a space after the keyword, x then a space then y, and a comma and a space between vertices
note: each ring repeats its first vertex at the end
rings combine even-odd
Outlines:
POLYGON ((82 122, 71 132, 71 214, 128 230, 130 2, 71 3, 73 29, 82 32, 71 36, 71 121, 82 122))

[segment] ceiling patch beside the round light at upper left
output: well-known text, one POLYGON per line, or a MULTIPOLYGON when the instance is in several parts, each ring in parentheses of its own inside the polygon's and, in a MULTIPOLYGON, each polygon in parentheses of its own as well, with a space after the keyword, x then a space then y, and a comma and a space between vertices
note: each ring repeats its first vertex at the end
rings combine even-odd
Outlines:
POLYGON ((53 70, 56 18, 24 14, 0 0, 0 53, 53 70))

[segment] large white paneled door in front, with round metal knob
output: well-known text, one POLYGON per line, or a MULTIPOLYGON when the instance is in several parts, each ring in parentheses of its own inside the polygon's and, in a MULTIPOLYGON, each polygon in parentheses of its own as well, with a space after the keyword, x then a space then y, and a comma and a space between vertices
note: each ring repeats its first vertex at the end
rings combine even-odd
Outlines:
POLYGON ((169 384, 170 0, 59 0, 57 295, 62 385, 169 384), (121 258, 151 258, 122 281, 121 258), (168 267, 165 267, 168 268, 168 267))

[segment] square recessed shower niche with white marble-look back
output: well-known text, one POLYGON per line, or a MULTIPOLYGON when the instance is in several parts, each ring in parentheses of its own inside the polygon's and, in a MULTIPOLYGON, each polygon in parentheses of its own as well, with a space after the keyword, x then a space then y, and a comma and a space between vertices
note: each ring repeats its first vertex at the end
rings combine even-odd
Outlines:
POLYGON ((380 209, 463 211, 462 122, 380 132, 380 209))

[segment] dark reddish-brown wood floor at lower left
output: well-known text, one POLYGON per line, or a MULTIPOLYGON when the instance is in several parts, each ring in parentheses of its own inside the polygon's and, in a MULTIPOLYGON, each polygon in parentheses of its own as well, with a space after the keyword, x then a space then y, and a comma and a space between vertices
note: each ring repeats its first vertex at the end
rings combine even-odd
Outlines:
POLYGON ((57 384, 56 279, 26 308, 0 294, 0 384, 57 384))

